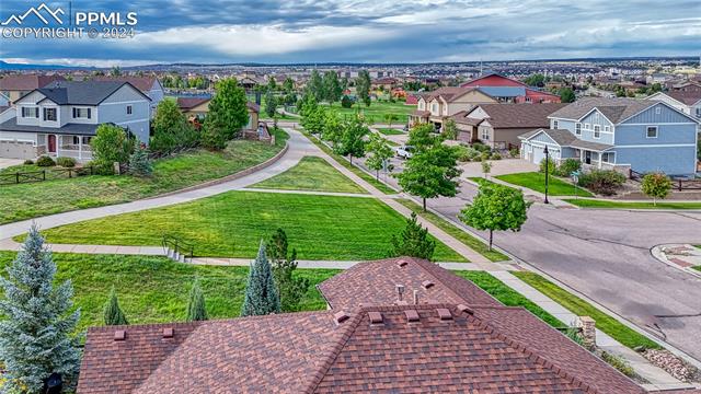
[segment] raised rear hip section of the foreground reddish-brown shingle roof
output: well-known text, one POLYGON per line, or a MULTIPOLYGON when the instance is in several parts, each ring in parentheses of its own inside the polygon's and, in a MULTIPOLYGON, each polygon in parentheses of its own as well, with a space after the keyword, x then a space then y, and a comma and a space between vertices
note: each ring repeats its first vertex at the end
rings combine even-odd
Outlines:
POLYGON ((492 296, 469 280, 462 279, 437 264, 403 257, 406 265, 390 258, 355 265, 350 269, 319 283, 319 291, 335 310, 391 305, 397 301, 397 285, 404 286, 404 300, 412 301, 418 291, 420 303, 452 302, 499 305, 492 296), (432 281, 425 289, 422 283, 432 281))

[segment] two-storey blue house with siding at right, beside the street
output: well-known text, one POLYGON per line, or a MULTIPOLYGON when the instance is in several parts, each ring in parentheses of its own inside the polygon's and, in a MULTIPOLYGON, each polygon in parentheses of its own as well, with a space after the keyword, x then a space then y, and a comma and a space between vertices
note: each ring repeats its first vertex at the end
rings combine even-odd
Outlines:
POLYGON ((664 102, 589 97, 548 118, 549 129, 519 136, 521 157, 532 163, 547 146, 555 161, 575 158, 585 170, 696 174, 699 120, 664 102))

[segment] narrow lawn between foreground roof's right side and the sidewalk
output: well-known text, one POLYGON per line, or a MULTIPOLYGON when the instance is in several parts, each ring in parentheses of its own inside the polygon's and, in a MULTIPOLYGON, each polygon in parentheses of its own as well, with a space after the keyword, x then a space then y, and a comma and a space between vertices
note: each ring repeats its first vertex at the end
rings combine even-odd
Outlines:
POLYGON ((504 285, 503 281, 496 279, 492 275, 485 271, 452 271, 455 275, 468 279, 479 286, 482 290, 490 293, 497 299, 501 303, 507 306, 524 306, 530 313, 535 314, 538 318, 550 324, 555 328, 566 327, 558 318, 550 313, 545 312, 542 308, 535 304, 529 299, 516 292, 514 289, 504 285))

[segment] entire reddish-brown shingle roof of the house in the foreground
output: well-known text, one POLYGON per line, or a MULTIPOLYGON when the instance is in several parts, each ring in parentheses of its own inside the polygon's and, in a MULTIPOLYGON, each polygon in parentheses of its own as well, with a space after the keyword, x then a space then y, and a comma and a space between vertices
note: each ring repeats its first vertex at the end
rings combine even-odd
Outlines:
POLYGON ((327 311, 91 327, 77 391, 645 392, 530 312, 426 260, 358 264, 319 290, 327 311))

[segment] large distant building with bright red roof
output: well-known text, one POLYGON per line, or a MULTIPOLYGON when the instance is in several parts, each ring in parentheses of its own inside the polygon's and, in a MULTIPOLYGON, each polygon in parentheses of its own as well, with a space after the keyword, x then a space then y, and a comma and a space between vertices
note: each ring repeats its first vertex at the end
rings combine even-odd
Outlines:
POLYGON ((478 77, 460 86, 478 88, 499 103, 560 103, 560 96, 556 94, 533 89, 495 72, 478 77))

